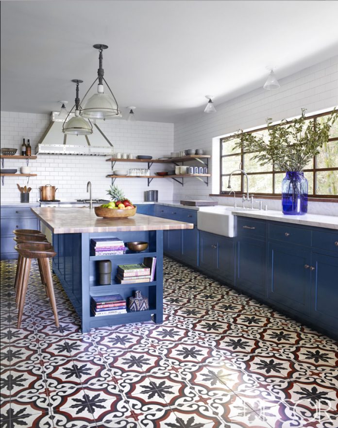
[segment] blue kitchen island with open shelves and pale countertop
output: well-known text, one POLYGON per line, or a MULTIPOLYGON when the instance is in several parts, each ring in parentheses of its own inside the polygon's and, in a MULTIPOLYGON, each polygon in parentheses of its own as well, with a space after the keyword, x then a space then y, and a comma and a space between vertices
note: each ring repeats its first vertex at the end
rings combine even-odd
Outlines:
POLYGON ((163 321, 163 230, 193 229, 192 223, 135 214, 127 218, 97 217, 89 208, 32 208, 38 219, 52 232, 57 255, 53 258, 53 272, 59 278, 69 300, 81 318, 83 332, 91 328, 153 320, 163 321), (91 239, 116 237, 124 242, 149 243, 142 252, 127 250, 121 255, 93 253, 91 239), (152 282, 120 284, 115 280, 119 264, 142 263, 145 257, 156 258, 156 272, 152 282), (110 285, 99 284, 98 263, 110 260, 110 285), (94 316, 90 311, 92 296, 120 294, 124 299, 136 290, 148 297, 149 310, 94 316))

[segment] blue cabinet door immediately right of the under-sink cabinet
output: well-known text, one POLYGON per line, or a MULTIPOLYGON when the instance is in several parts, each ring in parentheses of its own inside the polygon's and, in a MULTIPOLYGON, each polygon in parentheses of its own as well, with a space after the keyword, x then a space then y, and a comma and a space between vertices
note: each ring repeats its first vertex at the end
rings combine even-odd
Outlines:
POLYGON ((240 238, 236 252, 236 286, 257 296, 266 296, 265 241, 240 238))

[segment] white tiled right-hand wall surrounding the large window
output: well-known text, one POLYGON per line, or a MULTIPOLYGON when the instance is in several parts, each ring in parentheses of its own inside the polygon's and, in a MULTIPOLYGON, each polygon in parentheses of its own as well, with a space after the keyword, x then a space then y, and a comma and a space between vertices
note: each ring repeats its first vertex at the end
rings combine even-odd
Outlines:
MULTIPOLYGON (((215 137, 238 129, 264 125, 268 117, 281 120, 300 115, 301 108, 306 108, 310 113, 338 105, 338 56, 305 68, 279 82, 281 87, 278 90, 259 88, 220 105, 217 105, 216 98, 217 113, 205 114, 201 110, 198 115, 175 123, 174 150, 203 148, 206 154, 212 154, 215 137)), ((185 180, 184 187, 174 183, 175 199, 209 199, 210 193, 219 193, 219 151, 214 149, 213 155, 214 165, 209 169, 211 173, 214 172, 214 176, 209 180, 209 186, 192 178, 185 180)), ((230 198, 213 199, 224 205, 233 203, 230 198)), ((271 209, 280 209, 280 201, 264 200, 263 204, 268 204, 271 209)), ((308 212, 338 215, 338 206, 335 203, 310 202, 308 212)))

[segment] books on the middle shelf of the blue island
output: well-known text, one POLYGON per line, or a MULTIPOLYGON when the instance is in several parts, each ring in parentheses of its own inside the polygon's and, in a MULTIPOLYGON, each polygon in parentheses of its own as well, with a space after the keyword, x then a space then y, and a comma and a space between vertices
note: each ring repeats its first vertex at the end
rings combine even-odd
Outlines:
POLYGON ((139 264, 119 264, 116 280, 120 284, 153 281, 155 265, 156 257, 145 257, 139 264))

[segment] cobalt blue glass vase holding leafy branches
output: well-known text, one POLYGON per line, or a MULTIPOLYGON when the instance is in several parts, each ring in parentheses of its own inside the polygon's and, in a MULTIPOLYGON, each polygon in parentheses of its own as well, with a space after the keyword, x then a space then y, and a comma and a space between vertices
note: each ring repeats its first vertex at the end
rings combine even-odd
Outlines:
POLYGON ((282 181, 283 214, 303 215, 307 213, 308 182, 301 171, 287 171, 282 181))

